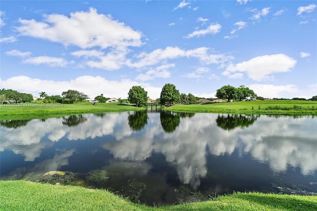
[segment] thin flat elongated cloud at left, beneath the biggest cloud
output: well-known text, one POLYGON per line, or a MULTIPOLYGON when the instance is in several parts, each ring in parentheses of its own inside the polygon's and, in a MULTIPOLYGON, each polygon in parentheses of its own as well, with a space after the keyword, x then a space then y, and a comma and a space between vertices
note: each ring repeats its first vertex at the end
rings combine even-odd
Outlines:
POLYGON ((50 67, 65 67, 68 62, 64 58, 58 58, 58 57, 52 57, 52 56, 36 56, 36 57, 30 57, 25 60, 23 60, 23 63, 28 64, 45 64, 50 67))

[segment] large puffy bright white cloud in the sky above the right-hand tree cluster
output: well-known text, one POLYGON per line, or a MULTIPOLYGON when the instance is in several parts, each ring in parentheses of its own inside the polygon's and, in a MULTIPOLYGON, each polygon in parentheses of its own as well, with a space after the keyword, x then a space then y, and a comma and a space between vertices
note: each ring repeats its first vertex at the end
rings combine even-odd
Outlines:
POLYGON ((223 75, 231 76, 232 72, 246 72, 248 77, 261 81, 278 72, 288 72, 296 64, 296 60, 285 54, 271 54, 254 57, 248 61, 227 66, 223 75))

